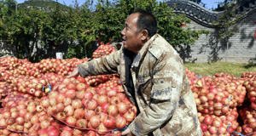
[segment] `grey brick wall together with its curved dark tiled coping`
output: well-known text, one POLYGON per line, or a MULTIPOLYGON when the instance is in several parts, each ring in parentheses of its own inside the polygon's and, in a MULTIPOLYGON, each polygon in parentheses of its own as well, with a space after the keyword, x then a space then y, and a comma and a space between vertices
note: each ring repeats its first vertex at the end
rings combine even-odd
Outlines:
POLYGON ((175 3, 177 7, 174 12, 186 14, 192 20, 187 26, 195 27, 195 30, 210 31, 208 35, 201 35, 195 45, 187 47, 189 54, 182 54, 183 52, 180 51, 180 55, 185 61, 195 63, 215 61, 248 63, 256 61, 256 39, 254 37, 256 32, 256 1, 248 1, 250 7, 240 7, 242 11, 238 10, 237 14, 244 14, 245 18, 236 23, 234 28, 237 32, 229 39, 224 40, 218 36, 218 26, 212 26, 212 20, 206 21, 209 14, 218 17, 222 12, 209 11, 188 0, 172 0, 167 3, 170 7, 173 7, 173 3, 175 3), (197 12, 195 9, 201 14, 193 14, 197 12))

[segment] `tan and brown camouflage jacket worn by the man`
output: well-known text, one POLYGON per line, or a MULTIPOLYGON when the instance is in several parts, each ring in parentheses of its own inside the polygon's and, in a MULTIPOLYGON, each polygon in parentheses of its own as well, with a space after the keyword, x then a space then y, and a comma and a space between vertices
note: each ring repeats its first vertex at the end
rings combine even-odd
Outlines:
MULTIPOLYGON (((86 77, 119 72, 124 85, 125 59, 122 50, 79 65, 79 74, 86 77)), ((156 34, 145 43, 131 65, 131 76, 141 111, 129 126, 131 133, 202 135, 194 95, 182 59, 163 37, 156 34)), ((133 101, 126 88, 125 94, 133 101)))

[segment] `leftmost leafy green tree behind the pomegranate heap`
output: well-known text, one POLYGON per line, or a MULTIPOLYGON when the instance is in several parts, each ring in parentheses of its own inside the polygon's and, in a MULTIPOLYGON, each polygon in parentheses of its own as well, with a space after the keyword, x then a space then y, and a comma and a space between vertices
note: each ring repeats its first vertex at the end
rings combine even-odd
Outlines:
POLYGON ((33 9, 19 9, 15 14, 5 19, 2 31, 3 42, 7 42, 9 46, 15 46, 15 54, 18 58, 23 58, 26 54, 30 59, 34 60, 38 54, 32 54, 37 48, 39 31, 42 25, 44 13, 33 9), (6 36, 5 33, 8 35, 6 36))

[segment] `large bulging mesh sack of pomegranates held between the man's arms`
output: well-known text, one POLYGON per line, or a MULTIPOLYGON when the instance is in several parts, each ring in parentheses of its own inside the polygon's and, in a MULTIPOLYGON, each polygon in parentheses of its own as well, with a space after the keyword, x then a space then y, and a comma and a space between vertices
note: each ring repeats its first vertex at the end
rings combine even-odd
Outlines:
POLYGON ((137 109, 119 92, 116 82, 91 87, 83 77, 65 78, 55 91, 42 98, 41 105, 68 127, 96 130, 99 134, 124 128, 136 116, 137 109))

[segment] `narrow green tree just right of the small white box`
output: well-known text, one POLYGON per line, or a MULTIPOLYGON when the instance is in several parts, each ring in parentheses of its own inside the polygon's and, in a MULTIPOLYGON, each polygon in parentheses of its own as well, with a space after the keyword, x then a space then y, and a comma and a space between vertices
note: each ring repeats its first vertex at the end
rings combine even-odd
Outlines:
POLYGON ((79 45, 71 45, 68 47, 66 58, 73 57, 84 58, 91 56, 90 42, 96 41, 95 38, 95 16, 92 15, 91 6, 92 1, 87 0, 81 7, 79 3, 75 2, 72 8, 67 12, 67 35, 68 40, 73 43, 77 42, 79 45))

